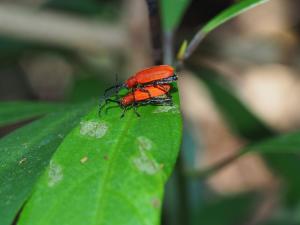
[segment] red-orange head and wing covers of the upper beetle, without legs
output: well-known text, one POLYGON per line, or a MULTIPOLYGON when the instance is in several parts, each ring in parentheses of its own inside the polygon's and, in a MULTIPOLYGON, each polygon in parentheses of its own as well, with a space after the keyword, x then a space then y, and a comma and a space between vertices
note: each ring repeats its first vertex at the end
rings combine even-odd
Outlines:
POLYGON ((169 65, 153 66, 137 72, 126 81, 127 88, 134 88, 138 84, 147 84, 174 75, 174 68, 169 65))

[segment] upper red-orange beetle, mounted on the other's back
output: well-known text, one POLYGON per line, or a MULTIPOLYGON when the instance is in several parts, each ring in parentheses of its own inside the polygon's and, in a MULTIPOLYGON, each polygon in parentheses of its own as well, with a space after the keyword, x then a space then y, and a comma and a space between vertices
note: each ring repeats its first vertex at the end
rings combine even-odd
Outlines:
MULTIPOLYGON (((121 88, 134 89, 147 85, 162 88, 162 84, 169 84, 176 81, 177 79, 178 78, 173 67, 169 65, 153 66, 137 72, 122 84, 117 84, 106 89, 104 92, 104 96, 106 96, 107 92, 112 89, 116 90, 117 93, 121 88)), ((147 92, 144 90, 144 88, 142 88, 141 91, 147 92)))

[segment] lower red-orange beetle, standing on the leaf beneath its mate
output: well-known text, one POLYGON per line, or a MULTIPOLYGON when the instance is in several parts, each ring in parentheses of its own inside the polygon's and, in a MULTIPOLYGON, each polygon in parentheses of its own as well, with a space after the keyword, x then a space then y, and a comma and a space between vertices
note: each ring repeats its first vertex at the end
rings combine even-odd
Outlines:
POLYGON ((121 118, 125 115, 126 110, 131 107, 133 107, 136 115, 140 116, 140 114, 137 112, 137 107, 139 105, 172 105, 172 97, 169 94, 170 89, 171 85, 169 84, 162 84, 161 88, 155 86, 145 86, 143 89, 135 89, 132 93, 125 95, 119 100, 110 98, 105 99, 105 103, 102 106, 100 105, 99 114, 107 102, 118 103, 119 106, 123 108, 121 118))

